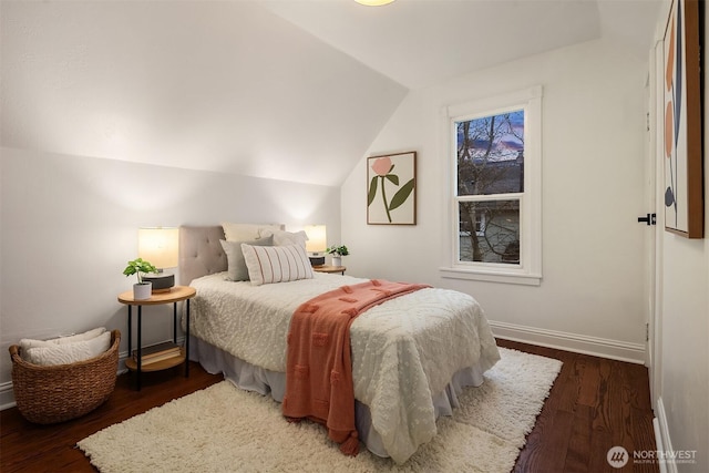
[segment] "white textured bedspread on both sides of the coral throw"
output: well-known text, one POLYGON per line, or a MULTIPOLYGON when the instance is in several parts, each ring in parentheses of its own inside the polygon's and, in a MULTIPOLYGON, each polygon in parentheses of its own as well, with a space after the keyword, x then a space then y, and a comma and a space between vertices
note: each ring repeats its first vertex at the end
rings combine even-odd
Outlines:
MULTIPOLYGON (((192 335, 271 371, 286 371, 286 338, 296 308, 366 279, 316 273, 315 279, 251 286, 226 273, 192 281, 192 335)), ((492 368, 500 353, 487 320, 469 295, 429 288, 369 309, 351 326, 354 398, 398 463, 436 432, 432 395, 456 371, 492 368)))

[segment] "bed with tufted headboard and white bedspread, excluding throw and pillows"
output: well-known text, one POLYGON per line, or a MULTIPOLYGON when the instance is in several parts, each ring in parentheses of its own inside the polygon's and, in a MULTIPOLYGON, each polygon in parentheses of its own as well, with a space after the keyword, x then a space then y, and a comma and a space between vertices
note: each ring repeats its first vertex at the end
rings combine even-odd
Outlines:
MULTIPOLYGON (((222 226, 179 229, 179 280, 197 289, 191 305, 191 359, 238 387, 282 401, 289 319, 302 302, 367 279, 312 278, 253 286, 228 280, 222 226)), ((367 449, 404 463, 451 415, 466 385, 500 359, 469 295, 425 288, 368 309, 351 325, 356 425, 367 449)))

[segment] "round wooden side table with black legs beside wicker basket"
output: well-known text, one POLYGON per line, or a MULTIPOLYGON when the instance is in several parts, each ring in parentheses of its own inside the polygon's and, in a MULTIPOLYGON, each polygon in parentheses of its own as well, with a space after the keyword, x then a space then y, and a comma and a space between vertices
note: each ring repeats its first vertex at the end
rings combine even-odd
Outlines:
POLYGON ((160 371, 166 370, 172 367, 184 362, 185 363, 185 378, 189 376, 189 299, 195 297, 197 290, 189 286, 175 286, 169 292, 153 294, 150 299, 135 300, 133 298, 133 290, 126 290, 119 295, 119 302, 125 304, 129 307, 129 358, 125 360, 127 369, 136 372, 136 389, 141 390, 141 374, 143 371, 160 371), (177 343, 177 302, 184 300, 186 304, 186 333, 185 333, 185 347, 181 350, 179 356, 175 356, 167 360, 162 360, 152 363, 150 368, 143 369, 143 345, 142 345, 142 328, 143 328, 143 306, 160 306, 162 304, 173 304, 173 342, 177 343), (133 306, 137 306, 137 361, 134 361, 133 356, 133 306))

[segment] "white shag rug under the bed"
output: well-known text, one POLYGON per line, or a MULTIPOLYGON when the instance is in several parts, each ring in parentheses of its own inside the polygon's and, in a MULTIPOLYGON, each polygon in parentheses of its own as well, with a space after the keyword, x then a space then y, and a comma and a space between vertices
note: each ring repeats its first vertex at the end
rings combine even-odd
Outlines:
POLYGON ((111 425, 78 446, 110 472, 510 472, 562 362, 501 348, 480 388, 465 388, 453 417, 403 465, 360 445, 340 453, 325 429, 289 423, 280 403, 228 381, 111 425))

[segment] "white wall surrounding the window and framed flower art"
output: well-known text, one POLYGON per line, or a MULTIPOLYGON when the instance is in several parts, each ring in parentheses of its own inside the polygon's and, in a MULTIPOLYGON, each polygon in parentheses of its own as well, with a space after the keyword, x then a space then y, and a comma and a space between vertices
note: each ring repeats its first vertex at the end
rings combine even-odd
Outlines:
POLYGON ((641 361, 646 76, 646 62, 599 40, 410 93, 368 155, 419 153, 419 223, 367 225, 362 158, 342 186, 348 273, 458 289, 481 302, 497 333, 641 361), (544 88, 542 284, 443 279, 449 158, 441 109, 536 84, 544 88))

